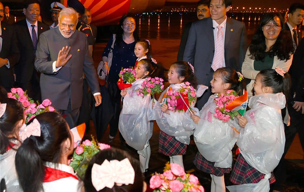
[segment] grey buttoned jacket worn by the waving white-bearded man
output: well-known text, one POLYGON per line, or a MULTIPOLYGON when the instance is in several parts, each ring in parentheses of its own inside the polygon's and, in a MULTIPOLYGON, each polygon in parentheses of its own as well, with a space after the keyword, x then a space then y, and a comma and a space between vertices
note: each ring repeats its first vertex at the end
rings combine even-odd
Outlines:
POLYGON ((50 29, 40 35, 37 45, 35 68, 40 75, 41 98, 49 98, 56 109, 67 110, 71 98, 71 108, 79 108, 82 102, 83 73, 91 92, 97 93, 99 83, 88 52, 88 41, 84 33, 76 30, 70 38, 60 34, 59 28, 50 29), (71 59, 53 73, 53 62, 64 46, 71 46, 71 59))

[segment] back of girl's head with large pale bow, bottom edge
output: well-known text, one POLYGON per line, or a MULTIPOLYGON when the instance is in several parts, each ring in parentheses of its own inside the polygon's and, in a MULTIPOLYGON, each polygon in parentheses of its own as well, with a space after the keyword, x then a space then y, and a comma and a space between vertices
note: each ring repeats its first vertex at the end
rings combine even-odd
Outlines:
POLYGON ((139 162, 126 151, 110 148, 98 152, 89 162, 84 178, 85 192, 146 191, 139 162))

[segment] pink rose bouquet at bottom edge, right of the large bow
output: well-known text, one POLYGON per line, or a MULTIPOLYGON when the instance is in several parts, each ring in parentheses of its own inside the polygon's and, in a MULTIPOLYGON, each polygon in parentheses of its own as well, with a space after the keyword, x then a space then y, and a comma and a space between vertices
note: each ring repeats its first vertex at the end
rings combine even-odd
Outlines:
POLYGON ((167 163, 164 173, 155 173, 150 179, 150 188, 153 192, 204 192, 204 187, 192 174, 185 173, 184 169, 176 163, 167 163))

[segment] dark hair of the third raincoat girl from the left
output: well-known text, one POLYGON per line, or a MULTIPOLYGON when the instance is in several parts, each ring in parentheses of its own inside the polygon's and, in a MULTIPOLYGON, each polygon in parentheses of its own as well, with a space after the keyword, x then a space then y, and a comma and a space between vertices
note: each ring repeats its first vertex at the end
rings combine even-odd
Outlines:
POLYGON ((246 90, 245 81, 239 81, 239 76, 235 69, 228 67, 219 68, 214 72, 214 75, 222 77, 223 83, 229 83, 229 89, 233 89, 239 95, 243 95, 243 90, 246 90))

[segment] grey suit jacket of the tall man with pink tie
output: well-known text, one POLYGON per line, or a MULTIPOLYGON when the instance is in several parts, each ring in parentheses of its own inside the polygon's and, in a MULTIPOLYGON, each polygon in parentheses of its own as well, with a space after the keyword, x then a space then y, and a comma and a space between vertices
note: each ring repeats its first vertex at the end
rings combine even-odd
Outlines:
MULTIPOLYGON (((192 23, 184 52, 183 60, 190 62, 195 68, 199 84, 210 86, 213 70, 211 64, 214 56, 214 35, 211 17, 192 23)), ((247 34, 245 24, 227 17, 224 43, 226 67, 241 71, 247 50, 247 34)), ((197 101, 199 109, 211 95, 208 89, 197 101)))

